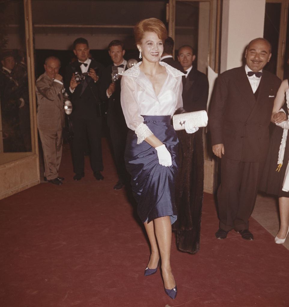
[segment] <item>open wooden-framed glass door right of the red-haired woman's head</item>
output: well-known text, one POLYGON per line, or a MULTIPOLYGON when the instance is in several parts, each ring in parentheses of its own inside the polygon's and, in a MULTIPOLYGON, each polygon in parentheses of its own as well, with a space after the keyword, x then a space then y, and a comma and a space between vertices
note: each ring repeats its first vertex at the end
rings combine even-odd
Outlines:
MULTIPOLYGON (((209 77, 210 93, 219 70, 220 0, 169 0, 167 22, 175 49, 191 45, 196 53, 196 67, 209 77), (212 74, 214 76, 212 76, 212 74)), ((216 163, 212 158, 210 139, 204 130, 204 191, 214 192, 216 163)))

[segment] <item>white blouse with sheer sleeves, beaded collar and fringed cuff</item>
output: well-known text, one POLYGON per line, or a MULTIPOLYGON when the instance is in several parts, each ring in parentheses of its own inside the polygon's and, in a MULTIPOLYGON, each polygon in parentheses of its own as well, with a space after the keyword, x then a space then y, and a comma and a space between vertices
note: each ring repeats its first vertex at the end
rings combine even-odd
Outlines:
POLYGON ((138 144, 152 135, 151 130, 143 123, 141 115, 174 115, 175 110, 183 107, 182 72, 159 62, 167 70, 167 78, 158 95, 151 81, 140 71, 139 62, 130 69, 120 73, 121 106, 127 126, 134 130, 138 137, 138 144))

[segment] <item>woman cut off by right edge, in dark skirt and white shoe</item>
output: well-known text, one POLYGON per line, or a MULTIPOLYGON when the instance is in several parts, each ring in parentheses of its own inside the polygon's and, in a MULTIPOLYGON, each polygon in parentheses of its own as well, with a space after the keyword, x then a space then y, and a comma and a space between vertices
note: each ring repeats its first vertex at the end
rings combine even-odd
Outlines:
POLYGON ((283 244, 289 231, 289 140, 287 139, 289 119, 284 113, 281 119, 276 115, 284 104, 286 95, 289 106, 288 80, 284 80, 274 100, 271 122, 276 124, 270 138, 270 147, 265 162, 260 189, 268 194, 278 196, 280 211, 280 229, 275 237, 275 243, 283 244))

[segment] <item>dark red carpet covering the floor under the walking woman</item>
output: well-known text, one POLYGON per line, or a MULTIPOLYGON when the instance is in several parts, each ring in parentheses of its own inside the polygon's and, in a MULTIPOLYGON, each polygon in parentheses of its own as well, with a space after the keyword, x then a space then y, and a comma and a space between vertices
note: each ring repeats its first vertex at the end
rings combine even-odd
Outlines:
MULTIPOLYGON (((205 194, 201 249, 177 251, 171 262, 178 296, 171 300, 157 274, 144 277, 149 247, 103 139, 104 181, 72 180, 63 151, 62 186, 40 184, 0 202, 1 307, 288 307, 289 251, 255 220, 248 242, 230 232, 215 239, 213 196, 205 194)), ((66 145, 67 146, 67 145, 66 145)))

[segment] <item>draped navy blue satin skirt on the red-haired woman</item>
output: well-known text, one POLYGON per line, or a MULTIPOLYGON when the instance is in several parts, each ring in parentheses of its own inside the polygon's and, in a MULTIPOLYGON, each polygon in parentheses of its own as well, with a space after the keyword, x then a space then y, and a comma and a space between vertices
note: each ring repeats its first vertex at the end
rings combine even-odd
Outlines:
POLYGON ((171 153, 172 165, 159 164, 158 154, 146 141, 137 144, 137 136, 129 130, 126 139, 125 162, 131 175, 131 186, 138 204, 138 216, 142 222, 170 216, 177 219, 175 206, 175 178, 178 170, 177 152, 179 140, 171 125, 171 116, 145 116, 144 124, 163 142, 171 153))

